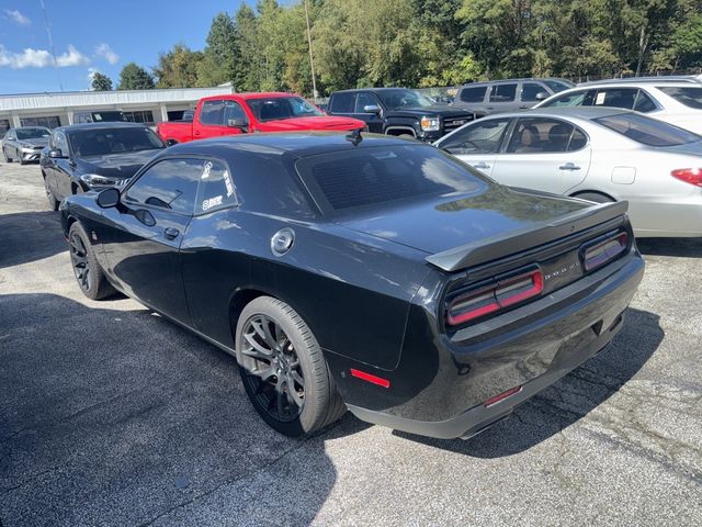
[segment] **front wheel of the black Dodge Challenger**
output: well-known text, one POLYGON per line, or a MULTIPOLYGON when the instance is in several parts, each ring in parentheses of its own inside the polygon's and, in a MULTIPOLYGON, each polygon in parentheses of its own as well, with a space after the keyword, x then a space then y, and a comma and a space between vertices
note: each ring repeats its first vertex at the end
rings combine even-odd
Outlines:
POLYGON ((76 281, 86 296, 102 300, 116 293, 95 259, 86 229, 78 222, 68 229, 68 248, 76 281))

